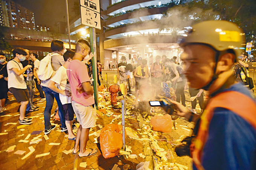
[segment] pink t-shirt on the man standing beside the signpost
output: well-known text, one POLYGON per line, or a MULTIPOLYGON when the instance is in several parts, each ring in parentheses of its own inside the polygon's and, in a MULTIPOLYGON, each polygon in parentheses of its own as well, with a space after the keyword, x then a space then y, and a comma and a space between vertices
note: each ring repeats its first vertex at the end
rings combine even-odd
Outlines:
POLYGON ((72 100, 76 103, 84 106, 90 106, 94 104, 94 98, 92 94, 86 92, 79 93, 76 89, 82 87, 82 83, 89 82, 87 67, 79 60, 70 61, 67 66, 67 76, 69 78, 70 88, 72 92, 72 100))

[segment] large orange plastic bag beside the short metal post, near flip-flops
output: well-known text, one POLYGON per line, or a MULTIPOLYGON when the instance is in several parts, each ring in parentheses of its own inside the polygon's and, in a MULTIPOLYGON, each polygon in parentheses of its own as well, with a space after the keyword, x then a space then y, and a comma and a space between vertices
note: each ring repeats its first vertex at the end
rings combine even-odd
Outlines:
POLYGON ((108 124, 102 128, 99 143, 104 158, 112 158, 118 155, 123 145, 122 125, 108 124))

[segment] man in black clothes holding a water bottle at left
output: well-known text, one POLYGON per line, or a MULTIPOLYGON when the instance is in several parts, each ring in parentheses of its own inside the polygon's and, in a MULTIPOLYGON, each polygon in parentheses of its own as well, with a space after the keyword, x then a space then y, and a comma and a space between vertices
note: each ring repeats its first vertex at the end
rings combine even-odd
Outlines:
MULTIPOLYGON (((21 61, 20 63, 22 64, 23 67, 27 66, 27 65, 31 65, 32 68, 32 73, 34 70, 34 63, 32 60, 30 60, 30 54, 31 52, 27 49, 24 49, 27 52, 26 55, 26 60, 21 61)), ((27 112, 34 112, 34 111, 38 111, 39 109, 38 106, 34 106, 33 104, 33 100, 34 100, 34 95, 35 95, 35 81, 34 81, 34 76, 31 77, 31 80, 27 80, 27 72, 24 73, 24 79, 27 85, 27 90, 29 91, 29 104, 27 104, 27 112)))

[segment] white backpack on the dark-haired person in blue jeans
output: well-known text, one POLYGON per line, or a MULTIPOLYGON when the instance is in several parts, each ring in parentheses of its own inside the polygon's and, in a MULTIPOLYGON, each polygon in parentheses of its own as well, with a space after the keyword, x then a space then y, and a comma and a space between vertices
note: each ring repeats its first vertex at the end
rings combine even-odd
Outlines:
POLYGON ((52 74, 54 73, 52 69, 52 53, 47 54, 39 64, 38 68, 38 78, 42 81, 46 81, 52 77, 52 74))

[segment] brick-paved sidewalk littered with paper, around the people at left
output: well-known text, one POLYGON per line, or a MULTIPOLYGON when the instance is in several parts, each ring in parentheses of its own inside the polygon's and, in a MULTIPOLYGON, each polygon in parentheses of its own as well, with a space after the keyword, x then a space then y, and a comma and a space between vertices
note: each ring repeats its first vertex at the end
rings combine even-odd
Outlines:
MULTIPOLYGON (((38 94, 38 93, 36 93, 38 94)), ((13 95, 9 95, 10 101, 6 106, 6 111, 0 113, 0 164, 1 169, 4 170, 14 170, 14 169, 94 169, 94 170, 111 170, 114 164, 117 164, 120 169, 123 169, 123 165, 129 164, 130 169, 136 169, 136 165, 145 160, 139 156, 143 154, 143 142, 140 140, 130 139, 129 136, 126 137, 126 145, 131 146, 131 154, 136 154, 137 158, 130 158, 126 155, 118 155, 113 158, 105 159, 100 150, 96 155, 79 158, 78 155, 72 155, 71 149, 74 147, 75 142, 68 140, 66 133, 60 132, 60 127, 57 125, 55 130, 51 131, 46 140, 44 137, 44 107, 46 101, 36 102, 36 106, 40 106, 40 110, 37 112, 30 112, 29 117, 33 117, 33 124, 19 127, 18 117, 19 113, 17 112, 20 104, 16 103, 16 100, 13 98, 13 95), (42 131, 37 135, 29 135, 33 131, 42 131), (36 138, 35 138, 36 137, 36 138), (31 140, 40 140, 42 141, 34 144, 30 144, 31 140), (51 144, 50 144, 51 143, 51 144), (53 145, 52 145, 53 143, 53 145), (35 149, 32 154, 27 158, 22 159, 25 155, 29 154, 33 148, 35 149), (29 148, 30 147, 30 148, 29 148), (17 154, 17 151, 25 151, 24 154, 17 154), (65 154, 64 152, 67 152, 65 154), (15 154, 16 152, 16 154, 15 154), (40 154, 46 154, 45 156, 40 156, 40 154), (48 155, 47 155, 48 154, 48 155), (36 158, 37 156, 37 158, 36 158), (80 163, 86 162, 86 168, 80 167, 80 163)), ((38 101, 38 98, 35 98, 38 101)), ((54 120, 54 110, 56 109, 57 104, 54 102, 52 109, 52 124, 60 124, 59 121, 54 120)), ((97 132, 107 124, 112 123, 118 124, 121 121, 121 117, 117 118, 120 115, 118 111, 111 111, 110 114, 98 116, 96 121, 96 127, 93 127, 90 131, 90 134, 97 132)), ((125 119, 126 126, 136 130, 139 128, 139 124, 136 119, 136 115, 130 115, 129 118, 125 119)), ((119 123, 120 124, 120 123, 119 123)), ((79 124, 78 124, 79 125, 79 124)), ((75 130, 76 131, 76 130, 75 130)), ((96 134, 99 135, 99 134, 96 134)), ((140 136, 140 135, 139 135, 140 136)), ((141 137, 141 136, 140 136, 141 137)), ((95 139, 99 141, 99 137, 95 135, 89 136, 89 141, 87 143, 88 148, 92 148, 95 145, 99 146, 99 143, 94 143, 95 139)))

